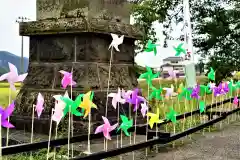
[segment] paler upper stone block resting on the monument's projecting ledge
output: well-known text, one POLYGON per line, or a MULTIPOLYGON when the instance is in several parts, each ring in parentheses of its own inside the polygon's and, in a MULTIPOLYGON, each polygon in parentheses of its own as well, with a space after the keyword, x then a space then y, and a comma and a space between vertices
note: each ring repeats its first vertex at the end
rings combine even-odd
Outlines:
POLYGON ((130 11, 126 0, 37 0, 37 20, 84 16, 129 24, 130 11))

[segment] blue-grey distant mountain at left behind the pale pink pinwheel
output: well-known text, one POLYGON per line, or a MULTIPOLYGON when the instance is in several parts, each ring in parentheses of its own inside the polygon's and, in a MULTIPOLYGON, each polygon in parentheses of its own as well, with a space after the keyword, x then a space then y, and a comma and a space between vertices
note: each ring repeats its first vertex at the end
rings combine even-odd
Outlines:
MULTIPOLYGON (((0 51, 0 74, 9 71, 8 62, 14 64, 17 67, 18 73, 21 72, 21 57, 7 51, 0 51)), ((27 72, 28 63, 29 59, 23 57, 24 72, 27 72)))

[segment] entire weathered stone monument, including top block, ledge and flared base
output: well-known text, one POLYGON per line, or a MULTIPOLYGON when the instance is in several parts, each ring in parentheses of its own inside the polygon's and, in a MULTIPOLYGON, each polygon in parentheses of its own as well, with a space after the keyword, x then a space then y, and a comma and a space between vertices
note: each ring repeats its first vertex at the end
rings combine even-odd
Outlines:
MULTIPOLYGON (((125 35, 120 52, 113 51, 110 92, 117 87, 137 86, 134 71, 134 41, 142 33, 130 25, 131 5, 126 0, 37 0, 37 21, 20 23, 20 35, 30 37, 28 76, 17 95, 12 118, 17 129, 30 130, 32 105, 40 92, 45 98, 41 118, 35 120, 35 132, 47 133, 53 95, 64 94, 60 70, 71 72, 77 86, 72 97, 94 91, 98 110, 93 122, 105 115, 110 50, 110 33, 125 35)), ((68 88, 70 94, 70 88, 68 88)), ((110 102, 111 99, 109 99, 110 102)), ((111 102, 108 118, 116 119, 111 102)), ((87 121, 87 119, 86 119, 87 121)), ((74 117, 75 128, 84 128, 80 117, 74 117)), ((60 123, 61 124, 61 123, 60 123)))

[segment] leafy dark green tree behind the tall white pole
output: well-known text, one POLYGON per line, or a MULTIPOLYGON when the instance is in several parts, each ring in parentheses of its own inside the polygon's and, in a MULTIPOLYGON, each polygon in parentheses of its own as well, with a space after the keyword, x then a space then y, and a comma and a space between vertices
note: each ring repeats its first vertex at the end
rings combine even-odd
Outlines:
MULTIPOLYGON (((238 0, 191 0, 191 21, 193 22, 193 41, 198 48, 197 54, 209 59, 207 67, 217 71, 217 81, 240 70, 240 2, 238 0)), ((182 1, 143 0, 133 9, 137 25, 144 30, 146 40, 155 38, 151 28, 154 21, 163 23, 166 40, 171 37, 173 23, 183 21, 182 1)), ((176 38, 176 37, 175 37, 176 38)), ((180 33, 179 40, 183 40, 180 33)))

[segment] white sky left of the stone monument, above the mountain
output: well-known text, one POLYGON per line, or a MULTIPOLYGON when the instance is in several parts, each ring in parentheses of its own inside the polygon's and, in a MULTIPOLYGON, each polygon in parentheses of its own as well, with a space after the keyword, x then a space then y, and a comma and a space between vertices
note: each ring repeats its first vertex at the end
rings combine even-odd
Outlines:
MULTIPOLYGON (((36 20, 35 0, 0 0, 0 51, 21 55, 21 37, 16 19, 36 20)), ((29 57, 29 38, 24 37, 24 57, 29 57)))

